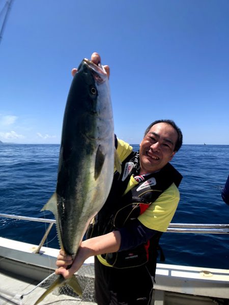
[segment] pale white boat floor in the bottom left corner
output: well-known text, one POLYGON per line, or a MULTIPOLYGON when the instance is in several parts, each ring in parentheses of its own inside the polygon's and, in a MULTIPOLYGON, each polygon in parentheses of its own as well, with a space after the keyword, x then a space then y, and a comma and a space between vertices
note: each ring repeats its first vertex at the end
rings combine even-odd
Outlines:
MULTIPOLYGON (((17 305, 32 305, 35 301, 41 296, 45 291, 44 288, 37 287, 31 293, 24 295, 20 298, 21 295, 26 294, 33 290, 37 282, 31 279, 24 277, 15 278, 15 275, 4 274, 0 270, 0 305, 5 304, 17 304, 17 305)), ((41 305, 96 305, 95 302, 85 302, 82 300, 77 300, 75 297, 63 295, 63 294, 48 294, 43 301, 40 302, 41 305)))

